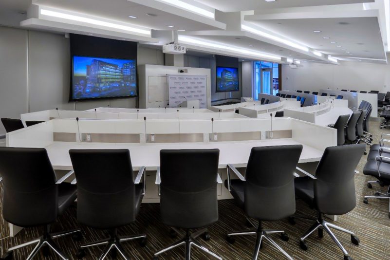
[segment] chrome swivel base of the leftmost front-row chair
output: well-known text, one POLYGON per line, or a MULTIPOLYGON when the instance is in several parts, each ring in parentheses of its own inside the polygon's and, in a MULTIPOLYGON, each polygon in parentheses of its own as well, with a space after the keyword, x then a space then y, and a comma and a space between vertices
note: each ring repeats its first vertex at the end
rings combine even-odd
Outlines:
POLYGON ((75 239, 79 240, 81 238, 81 230, 80 229, 74 229, 66 232, 59 232, 54 234, 49 234, 50 225, 45 226, 44 234, 37 238, 36 240, 32 240, 20 245, 13 246, 7 250, 7 253, 1 258, 1 260, 12 260, 13 259, 13 252, 17 249, 20 249, 25 246, 36 244, 33 251, 30 253, 30 255, 26 258, 26 260, 33 259, 40 249, 44 250, 44 255, 48 254, 47 251, 48 248, 51 248, 62 260, 69 260, 70 258, 64 254, 59 247, 54 242, 55 239, 69 236, 69 235, 75 235, 75 239))

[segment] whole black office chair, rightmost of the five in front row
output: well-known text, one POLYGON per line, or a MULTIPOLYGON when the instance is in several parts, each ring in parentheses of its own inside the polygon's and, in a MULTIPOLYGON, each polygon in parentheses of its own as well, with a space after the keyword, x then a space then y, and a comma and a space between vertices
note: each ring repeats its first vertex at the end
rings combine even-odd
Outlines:
POLYGON ((300 247, 303 250, 308 249, 305 240, 317 229, 318 236, 322 238, 324 229, 343 251, 344 260, 352 260, 330 228, 350 234, 355 245, 360 242, 358 237, 352 231, 325 221, 323 214, 344 215, 355 208, 355 169, 364 149, 365 145, 328 147, 317 166, 316 176, 302 171, 307 177, 295 179, 297 198, 318 212, 318 217, 314 220, 316 223, 300 238, 300 247))

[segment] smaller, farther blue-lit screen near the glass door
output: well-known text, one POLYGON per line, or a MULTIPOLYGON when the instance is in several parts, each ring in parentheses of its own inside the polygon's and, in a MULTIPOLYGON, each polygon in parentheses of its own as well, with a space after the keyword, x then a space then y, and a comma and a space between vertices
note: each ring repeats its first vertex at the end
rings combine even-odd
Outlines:
POLYGON ((238 68, 217 67, 216 91, 239 91, 238 68))

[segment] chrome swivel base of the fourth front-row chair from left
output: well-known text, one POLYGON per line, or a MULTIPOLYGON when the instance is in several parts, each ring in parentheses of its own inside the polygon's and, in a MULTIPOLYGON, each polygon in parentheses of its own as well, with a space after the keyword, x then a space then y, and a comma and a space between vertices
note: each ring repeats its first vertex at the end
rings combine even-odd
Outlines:
POLYGON ((261 222, 259 222, 259 225, 253 223, 250 219, 246 219, 247 223, 252 225, 255 229, 252 230, 243 230, 243 231, 238 231, 238 232, 233 232, 229 233, 226 236, 226 240, 229 243, 234 243, 235 236, 251 236, 251 235, 256 235, 256 245, 255 245, 255 250, 253 253, 253 258, 252 260, 257 260, 259 257, 259 252, 260 249, 262 248, 262 241, 266 240, 269 241, 273 246, 275 246, 286 258, 293 260, 293 258, 287 254, 286 251, 284 251, 274 240, 272 240, 269 235, 270 234, 280 234, 280 237, 283 241, 288 241, 288 235, 284 230, 272 230, 272 229, 262 229, 261 228, 261 222))

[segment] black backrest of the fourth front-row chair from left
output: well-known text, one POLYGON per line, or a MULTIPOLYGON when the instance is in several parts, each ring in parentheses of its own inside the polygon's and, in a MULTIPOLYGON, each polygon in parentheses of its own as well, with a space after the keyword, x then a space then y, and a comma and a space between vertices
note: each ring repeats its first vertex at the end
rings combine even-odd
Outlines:
POLYGON ((294 214, 294 172, 302 148, 302 145, 252 148, 244 184, 245 212, 249 217, 275 221, 294 214))

